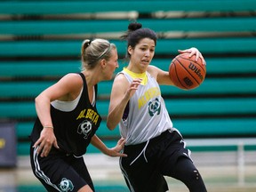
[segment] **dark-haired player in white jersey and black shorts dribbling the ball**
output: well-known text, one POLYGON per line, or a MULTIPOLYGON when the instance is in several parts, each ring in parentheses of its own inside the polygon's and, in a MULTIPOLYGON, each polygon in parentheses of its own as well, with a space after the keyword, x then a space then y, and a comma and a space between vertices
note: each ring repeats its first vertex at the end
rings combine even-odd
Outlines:
MULTIPOLYGON (((129 64, 114 80, 107 120, 110 130, 119 124, 126 140, 127 157, 120 158, 124 180, 131 191, 164 192, 168 190, 164 176, 169 176, 185 183, 190 192, 204 192, 204 181, 161 96, 159 84, 173 85, 169 73, 150 66, 156 33, 141 27, 131 23, 123 36, 129 64)), ((196 48, 183 52, 204 60, 196 48)))

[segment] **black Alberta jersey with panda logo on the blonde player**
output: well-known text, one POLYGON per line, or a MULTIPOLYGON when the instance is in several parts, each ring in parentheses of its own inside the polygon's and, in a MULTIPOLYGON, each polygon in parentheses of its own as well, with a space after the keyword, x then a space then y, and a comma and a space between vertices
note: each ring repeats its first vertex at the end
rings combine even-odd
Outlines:
MULTIPOLYGON (((84 89, 76 108, 72 111, 60 111, 51 105, 52 124, 54 134, 60 150, 67 154, 83 156, 87 146, 100 126, 101 117, 95 105, 89 100, 87 84, 84 74, 80 73, 84 81, 84 89)), ((97 97, 97 84, 94 86, 95 99, 97 97)), ((31 133, 32 142, 40 137, 43 126, 38 117, 31 133)), ((54 150, 54 148, 52 148, 54 150)), ((51 152, 50 152, 51 153, 51 152)))

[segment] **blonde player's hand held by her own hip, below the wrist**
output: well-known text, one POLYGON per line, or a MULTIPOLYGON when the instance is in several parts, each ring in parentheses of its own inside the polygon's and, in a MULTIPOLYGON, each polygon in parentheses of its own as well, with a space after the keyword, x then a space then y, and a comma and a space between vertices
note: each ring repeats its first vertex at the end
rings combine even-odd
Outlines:
POLYGON ((40 156, 48 156, 52 145, 54 148, 59 148, 56 137, 54 135, 52 128, 43 128, 40 138, 36 140, 36 143, 34 144, 33 148, 38 147, 37 154, 40 154, 40 156))

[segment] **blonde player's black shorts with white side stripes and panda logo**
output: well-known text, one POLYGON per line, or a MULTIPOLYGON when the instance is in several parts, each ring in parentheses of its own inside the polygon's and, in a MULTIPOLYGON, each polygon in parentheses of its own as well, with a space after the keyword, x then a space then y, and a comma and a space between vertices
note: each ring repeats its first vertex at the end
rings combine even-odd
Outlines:
POLYGON ((37 148, 30 147, 30 163, 38 180, 47 191, 78 191, 89 185, 94 191, 91 176, 84 164, 84 158, 54 152, 41 157, 37 148))

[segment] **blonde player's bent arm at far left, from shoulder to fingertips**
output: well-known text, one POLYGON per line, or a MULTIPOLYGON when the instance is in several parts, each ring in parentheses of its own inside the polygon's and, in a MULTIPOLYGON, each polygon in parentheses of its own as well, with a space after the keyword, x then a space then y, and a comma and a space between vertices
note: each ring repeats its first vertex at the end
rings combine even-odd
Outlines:
POLYGON ((37 153, 41 153, 40 156, 48 156, 52 145, 55 148, 59 148, 53 128, 49 128, 53 125, 50 112, 51 101, 67 100, 70 92, 75 92, 75 90, 82 87, 82 85, 83 81, 79 75, 68 74, 36 97, 36 114, 43 127, 45 127, 40 134, 40 138, 36 140, 36 143, 34 144, 35 148, 38 147, 37 153))

